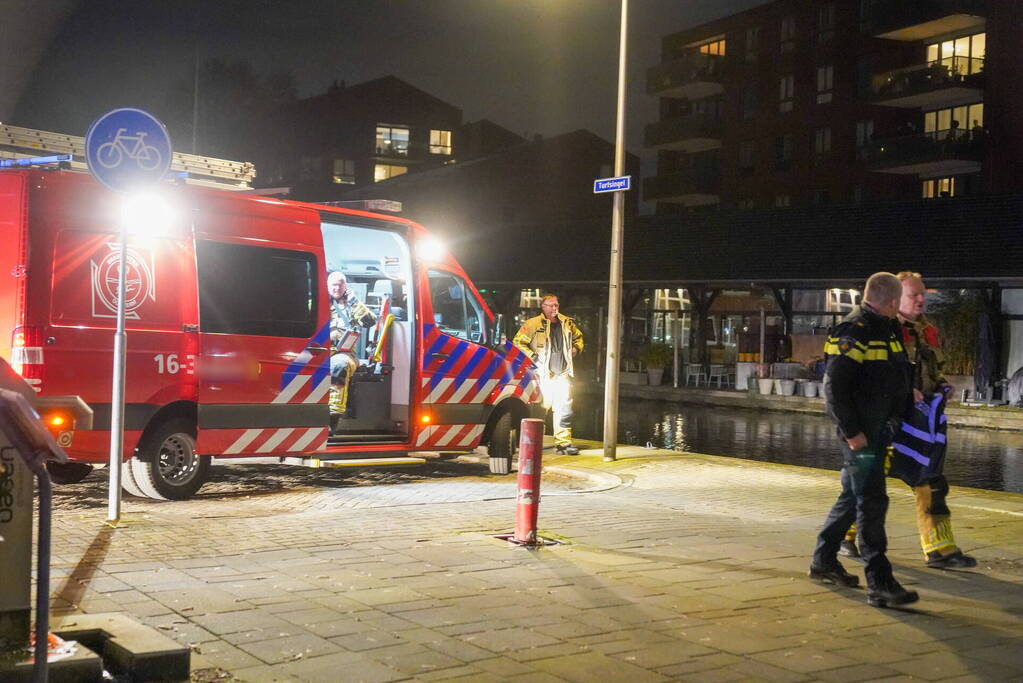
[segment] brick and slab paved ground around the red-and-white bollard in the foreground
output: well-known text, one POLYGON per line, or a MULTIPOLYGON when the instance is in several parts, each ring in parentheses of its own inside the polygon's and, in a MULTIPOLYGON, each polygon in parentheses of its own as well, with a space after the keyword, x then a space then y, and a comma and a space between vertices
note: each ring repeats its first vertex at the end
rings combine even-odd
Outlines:
POLYGON ((492 538, 513 525, 510 500, 401 495, 457 490, 471 469, 369 487, 390 489, 388 507, 324 505, 337 483, 315 476, 134 501, 117 530, 71 496, 55 517, 54 606, 127 612, 191 645, 193 670, 253 683, 1023 680, 1023 496, 953 489, 958 540, 980 567, 937 572, 893 483, 890 556, 921 601, 875 609, 861 589, 805 577, 836 472, 619 457, 551 460, 622 486, 545 497, 541 530, 565 544, 538 551, 492 538))

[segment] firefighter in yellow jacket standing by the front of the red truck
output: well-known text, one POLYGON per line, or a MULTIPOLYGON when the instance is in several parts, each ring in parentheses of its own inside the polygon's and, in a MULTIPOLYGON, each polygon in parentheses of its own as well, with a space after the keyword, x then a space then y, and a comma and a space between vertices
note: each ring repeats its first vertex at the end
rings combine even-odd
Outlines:
POLYGON ((542 313, 522 324, 513 344, 536 363, 543 404, 553 410, 554 446, 559 453, 578 455, 572 445, 572 359, 582 353, 582 332, 575 321, 559 313, 558 297, 540 302, 542 313))

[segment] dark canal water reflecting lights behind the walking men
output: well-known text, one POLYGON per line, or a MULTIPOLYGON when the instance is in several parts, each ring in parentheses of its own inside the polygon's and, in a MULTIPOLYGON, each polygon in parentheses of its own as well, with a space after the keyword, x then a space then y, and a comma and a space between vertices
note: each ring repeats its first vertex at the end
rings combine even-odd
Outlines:
MULTIPOLYGON (((580 439, 602 438, 603 402, 598 395, 576 398, 580 439)), ((627 399, 619 408, 618 441, 825 469, 841 464, 835 427, 822 415, 627 399)), ((1023 493, 1023 432, 950 427, 948 444, 949 484, 1023 493)))

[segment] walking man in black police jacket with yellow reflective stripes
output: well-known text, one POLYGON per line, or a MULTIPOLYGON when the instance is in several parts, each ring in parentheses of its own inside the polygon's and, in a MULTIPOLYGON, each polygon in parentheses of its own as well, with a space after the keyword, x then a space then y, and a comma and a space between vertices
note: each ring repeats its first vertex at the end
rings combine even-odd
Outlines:
POLYGON ((863 304, 832 331, 825 355, 825 399, 838 426, 842 449, 842 493, 828 514, 810 561, 809 576, 857 586, 859 579, 838 561, 838 549, 854 520, 866 567, 866 601, 876 607, 916 602, 918 595, 895 581, 885 556, 885 455, 892 420, 913 399, 911 370, 895 319, 902 284, 891 273, 875 273, 863 304))

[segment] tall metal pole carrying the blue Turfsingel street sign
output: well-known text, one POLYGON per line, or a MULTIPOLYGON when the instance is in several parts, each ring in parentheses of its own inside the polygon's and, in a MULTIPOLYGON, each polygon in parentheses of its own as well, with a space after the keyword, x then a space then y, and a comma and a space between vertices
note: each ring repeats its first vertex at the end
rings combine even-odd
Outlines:
MULTIPOLYGON (((618 124, 615 127, 615 175, 625 173, 625 38, 629 0, 622 0, 618 49, 618 124)), ((611 276, 608 281, 608 354, 604 379, 604 460, 616 459, 618 444, 618 359, 622 344, 622 243, 624 192, 615 192, 611 218, 611 276)))

